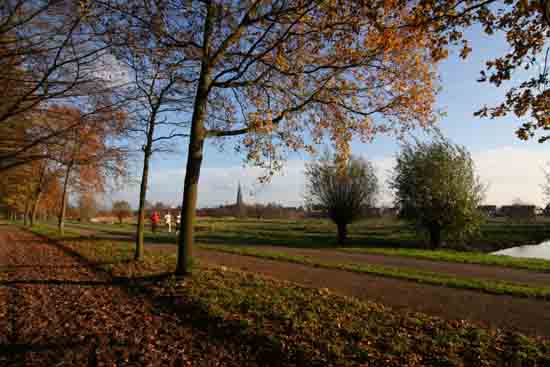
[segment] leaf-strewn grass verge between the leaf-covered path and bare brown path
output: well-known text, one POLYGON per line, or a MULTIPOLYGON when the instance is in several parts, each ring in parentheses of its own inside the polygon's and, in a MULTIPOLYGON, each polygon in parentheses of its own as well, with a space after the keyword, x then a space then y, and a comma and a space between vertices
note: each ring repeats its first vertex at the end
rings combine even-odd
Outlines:
MULTIPOLYGON (((146 251, 142 263, 129 262, 132 245, 127 242, 72 238, 60 245, 91 263, 110 264, 101 266, 115 277, 162 274, 175 265, 172 255, 152 251, 146 251)), ((398 312, 244 272, 199 268, 184 282, 133 287, 134 292, 147 290, 159 312, 175 312, 180 322, 192 323, 205 335, 238 341, 251 356, 280 366, 550 364, 546 339, 398 312)))

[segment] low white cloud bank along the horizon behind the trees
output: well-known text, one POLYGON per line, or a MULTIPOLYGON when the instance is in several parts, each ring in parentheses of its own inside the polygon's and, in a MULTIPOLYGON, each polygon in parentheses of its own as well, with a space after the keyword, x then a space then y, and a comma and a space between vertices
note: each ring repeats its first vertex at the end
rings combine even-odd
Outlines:
MULTIPOLYGON (((510 204, 515 198, 544 204, 541 184, 544 183, 545 156, 540 151, 528 147, 502 147, 474 152, 472 157, 481 180, 488 184, 485 202, 488 204, 510 204)), ((277 202, 283 205, 302 205, 305 188, 304 161, 290 160, 282 172, 271 182, 260 184, 258 177, 263 171, 258 168, 230 166, 204 167, 201 170, 199 207, 233 203, 239 182, 243 186, 247 202, 277 202)), ((390 205, 392 194, 387 186, 394 157, 373 159, 381 184, 378 203, 390 205)), ((153 170, 148 198, 151 202, 163 201, 179 205, 185 171, 178 169, 153 170)), ((137 206, 138 186, 127 188, 114 195, 114 199, 128 200, 137 206)))

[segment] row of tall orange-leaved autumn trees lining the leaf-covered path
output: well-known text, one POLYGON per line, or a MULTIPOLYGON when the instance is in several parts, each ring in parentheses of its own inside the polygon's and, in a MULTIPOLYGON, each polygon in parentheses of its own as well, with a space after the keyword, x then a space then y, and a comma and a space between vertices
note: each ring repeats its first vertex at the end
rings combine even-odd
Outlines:
MULTIPOLYGON (((285 151, 312 151, 328 138, 340 170, 353 138, 435 121, 437 63, 452 45, 467 57, 465 27, 506 33, 507 53, 481 78, 498 86, 539 64, 546 15, 542 0, 4 0, 0 171, 19 167, 11 181, 29 181, 12 188, 25 192, 25 211, 46 187, 31 171, 57 180, 62 231, 69 188, 100 190, 122 171, 128 150, 112 144, 119 132, 128 135, 118 143, 137 139, 140 260, 150 157, 188 137, 176 271, 183 275, 206 141, 235 137, 235 149, 269 176, 285 151)), ((545 128, 546 70, 479 114, 529 114, 521 138, 545 128)))

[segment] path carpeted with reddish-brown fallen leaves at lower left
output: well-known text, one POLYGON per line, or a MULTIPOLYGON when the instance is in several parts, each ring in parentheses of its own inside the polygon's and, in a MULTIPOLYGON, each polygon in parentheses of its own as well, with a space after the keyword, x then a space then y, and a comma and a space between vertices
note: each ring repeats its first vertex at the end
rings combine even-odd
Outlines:
POLYGON ((0 366, 257 365, 242 345, 158 307, 61 247, 0 225, 0 366))

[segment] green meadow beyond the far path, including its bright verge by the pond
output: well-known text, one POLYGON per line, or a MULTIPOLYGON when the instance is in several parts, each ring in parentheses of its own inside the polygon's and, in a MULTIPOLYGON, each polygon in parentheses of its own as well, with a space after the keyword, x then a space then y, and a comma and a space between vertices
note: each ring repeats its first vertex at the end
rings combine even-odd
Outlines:
MULTIPOLYGON (((550 261, 542 259, 522 259, 510 256, 495 256, 480 249, 502 248, 550 238, 548 222, 534 224, 514 224, 492 221, 484 225, 484 245, 475 251, 424 250, 416 239, 414 230, 404 223, 388 220, 366 220, 350 226, 351 239, 346 248, 336 247, 333 225, 323 220, 252 220, 252 219, 212 219, 201 218, 196 226, 196 239, 208 245, 228 246, 277 246, 338 249, 352 252, 377 253, 384 255, 415 257, 435 261, 497 265, 533 271, 550 271, 550 261), (548 232, 548 233, 547 233, 548 232), (506 238, 506 242, 504 240, 506 238), (499 242, 500 239, 500 242, 499 242), (416 241, 416 242, 415 242, 416 241), (510 243, 509 241, 516 241, 510 243), (495 245, 496 243, 496 245, 495 245), (416 246, 416 247, 415 247, 416 246)), ((94 224, 68 222, 68 233, 79 230, 96 230, 107 234, 133 235, 135 226, 131 224, 94 224)), ((82 232, 84 234, 84 232, 82 232)), ((174 233, 145 232, 149 244, 175 243, 174 233)))

